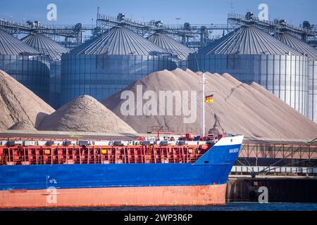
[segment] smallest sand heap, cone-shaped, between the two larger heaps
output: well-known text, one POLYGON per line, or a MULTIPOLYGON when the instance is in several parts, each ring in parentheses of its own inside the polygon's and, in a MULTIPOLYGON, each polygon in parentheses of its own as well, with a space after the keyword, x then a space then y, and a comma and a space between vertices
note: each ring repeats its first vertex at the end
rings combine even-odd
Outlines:
POLYGON ((66 103, 46 117, 38 129, 135 133, 134 129, 91 96, 80 96, 66 103))

